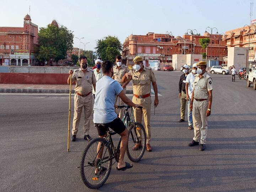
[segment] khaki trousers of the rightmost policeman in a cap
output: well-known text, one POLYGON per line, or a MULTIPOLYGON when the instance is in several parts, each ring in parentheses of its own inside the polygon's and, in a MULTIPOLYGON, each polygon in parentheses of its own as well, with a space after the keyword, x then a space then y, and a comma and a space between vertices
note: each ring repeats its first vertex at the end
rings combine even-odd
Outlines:
POLYGON ((199 137, 201 135, 200 143, 206 144, 207 137, 207 117, 206 111, 208 109, 208 100, 193 102, 193 124, 194 124, 194 138, 196 142, 199 142, 199 137), (202 126, 201 126, 202 122, 202 126))

